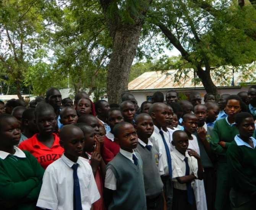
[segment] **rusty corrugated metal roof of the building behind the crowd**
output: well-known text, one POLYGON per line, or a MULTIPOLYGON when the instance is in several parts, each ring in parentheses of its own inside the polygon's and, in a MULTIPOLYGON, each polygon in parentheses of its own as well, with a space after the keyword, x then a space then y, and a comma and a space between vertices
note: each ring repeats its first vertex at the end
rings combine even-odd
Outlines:
MULTIPOLYGON (((181 76, 178 79, 178 82, 175 81, 175 74, 178 74, 179 70, 169 70, 167 72, 162 73, 162 71, 147 71, 141 74, 138 78, 129 82, 128 90, 147 90, 147 89, 176 89, 176 88, 194 88, 194 73, 193 71, 189 71, 187 76, 181 76)), ((254 72, 255 74, 256 72, 254 72)), ((219 79, 214 78, 214 72, 212 74, 212 81, 217 87, 231 87, 232 82, 232 71, 230 73, 225 74, 225 78, 219 79)), ((250 78, 243 79, 240 73, 234 73, 234 84, 235 86, 241 82, 256 82, 250 81, 250 78)), ((202 82, 196 84, 196 87, 204 87, 202 82)))

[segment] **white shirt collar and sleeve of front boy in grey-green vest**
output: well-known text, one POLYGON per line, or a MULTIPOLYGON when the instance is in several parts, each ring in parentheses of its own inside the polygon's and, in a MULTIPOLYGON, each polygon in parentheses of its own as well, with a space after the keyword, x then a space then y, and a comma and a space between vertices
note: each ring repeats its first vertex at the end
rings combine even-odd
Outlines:
MULTIPOLYGON (((132 163, 134 163, 133 161, 133 155, 136 156, 136 154, 134 153, 131 153, 131 152, 127 152, 123 149, 120 148, 120 151, 119 151, 123 156, 125 156, 126 158, 128 158, 132 163)), ((136 156, 136 158, 138 158, 136 156)), ((105 185, 104 185, 107 189, 110 189, 110 190, 116 190, 117 189, 117 178, 115 178, 115 174, 113 173, 113 171, 108 168, 107 171, 106 171, 106 176, 105 176, 105 185)))

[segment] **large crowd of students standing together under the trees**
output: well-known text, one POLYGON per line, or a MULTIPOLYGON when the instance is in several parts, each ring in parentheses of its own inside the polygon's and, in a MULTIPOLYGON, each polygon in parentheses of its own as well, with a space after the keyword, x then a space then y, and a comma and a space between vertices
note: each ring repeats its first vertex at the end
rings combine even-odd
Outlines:
POLYGON ((256 86, 180 100, 155 92, 138 106, 62 99, 0 101, 0 208, 252 210, 256 86))

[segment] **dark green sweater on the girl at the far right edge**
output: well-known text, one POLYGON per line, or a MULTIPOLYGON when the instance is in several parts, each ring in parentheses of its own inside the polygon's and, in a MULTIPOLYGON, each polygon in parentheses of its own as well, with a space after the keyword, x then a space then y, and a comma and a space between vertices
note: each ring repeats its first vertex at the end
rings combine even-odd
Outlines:
POLYGON ((238 146, 233 141, 227 150, 230 184, 238 192, 256 192, 256 149, 245 145, 238 146))

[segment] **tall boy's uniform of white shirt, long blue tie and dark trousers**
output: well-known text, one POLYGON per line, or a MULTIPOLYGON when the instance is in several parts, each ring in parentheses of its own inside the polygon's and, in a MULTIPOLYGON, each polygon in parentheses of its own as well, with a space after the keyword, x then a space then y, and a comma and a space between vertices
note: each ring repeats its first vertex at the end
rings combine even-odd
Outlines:
POLYGON ((167 204, 167 209, 172 209, 172 197, 173 197, 173 187, 172 187, 172 163, 170 155, 170 142, 169 137, 166 132, 161 128, 157 128, 154 125, 154 132, 149 138, 153 145, 157 145, 159 151, 162 153, 162 165, 164 168, 164 174, 161 176, 162 182, 164 184, 164 194, 167 204), (169 154, 168 154, 168 153, 169 154), (170 166, 169 166, 170 165, 170 166))

